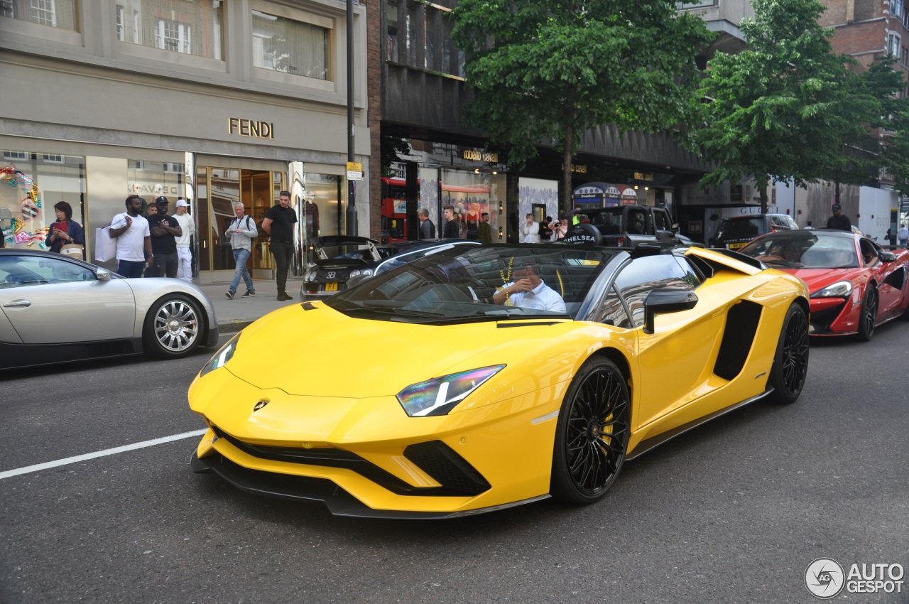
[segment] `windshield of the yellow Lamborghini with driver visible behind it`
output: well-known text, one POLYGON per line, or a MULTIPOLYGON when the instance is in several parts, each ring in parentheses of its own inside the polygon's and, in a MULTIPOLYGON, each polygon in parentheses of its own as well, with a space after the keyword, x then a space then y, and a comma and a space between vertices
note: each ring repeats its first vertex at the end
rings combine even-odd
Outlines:
POLYGON ((325 304, 409 323, 572 318, 615 250, 454 247, 367 279, 325 304))

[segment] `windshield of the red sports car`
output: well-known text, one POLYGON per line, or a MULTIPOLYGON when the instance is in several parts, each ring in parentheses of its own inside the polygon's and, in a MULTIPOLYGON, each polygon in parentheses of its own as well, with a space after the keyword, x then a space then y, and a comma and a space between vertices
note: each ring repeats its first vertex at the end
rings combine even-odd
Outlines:
POLYGON ((855 241, 824 231, 788 231, 767 235, 739 250, 764 264, 785 268, 849 268, 858 266, 855 241))

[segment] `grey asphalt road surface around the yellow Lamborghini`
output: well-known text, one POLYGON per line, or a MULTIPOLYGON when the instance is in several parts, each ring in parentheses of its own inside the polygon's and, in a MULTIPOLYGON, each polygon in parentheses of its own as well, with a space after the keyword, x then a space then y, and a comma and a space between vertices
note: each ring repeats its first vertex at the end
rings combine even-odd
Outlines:
MULTIPOLYGON (((207 353, 0 376, 0 602, 819 601, 814 559, 909 569, 907 344, 899 322, 814 344, 794 405, 676 438, 594 506, 420 522, 193 474, 186 388, 207 353)), ((909 602, 903 581, 836 600, 909 602)))

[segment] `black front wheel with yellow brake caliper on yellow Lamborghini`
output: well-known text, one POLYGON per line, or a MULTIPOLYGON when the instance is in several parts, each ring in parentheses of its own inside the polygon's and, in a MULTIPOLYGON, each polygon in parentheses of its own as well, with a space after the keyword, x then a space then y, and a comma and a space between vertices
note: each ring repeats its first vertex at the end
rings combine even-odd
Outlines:
POLYGON ((555 428, 554 498, 589 504, 604 497, 624 464, 630 418, 622 372, 605 357, 587 359, 565 393, 555 428))

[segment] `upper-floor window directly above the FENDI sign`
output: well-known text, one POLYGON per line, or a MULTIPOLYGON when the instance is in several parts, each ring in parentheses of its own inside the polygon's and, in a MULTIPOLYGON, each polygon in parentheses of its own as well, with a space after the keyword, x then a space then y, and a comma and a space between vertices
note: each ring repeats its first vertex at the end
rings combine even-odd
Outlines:
POLYGON ((330 27, 253 11, 253 65, 256 67, 331 80, 331 40, 330 27))

